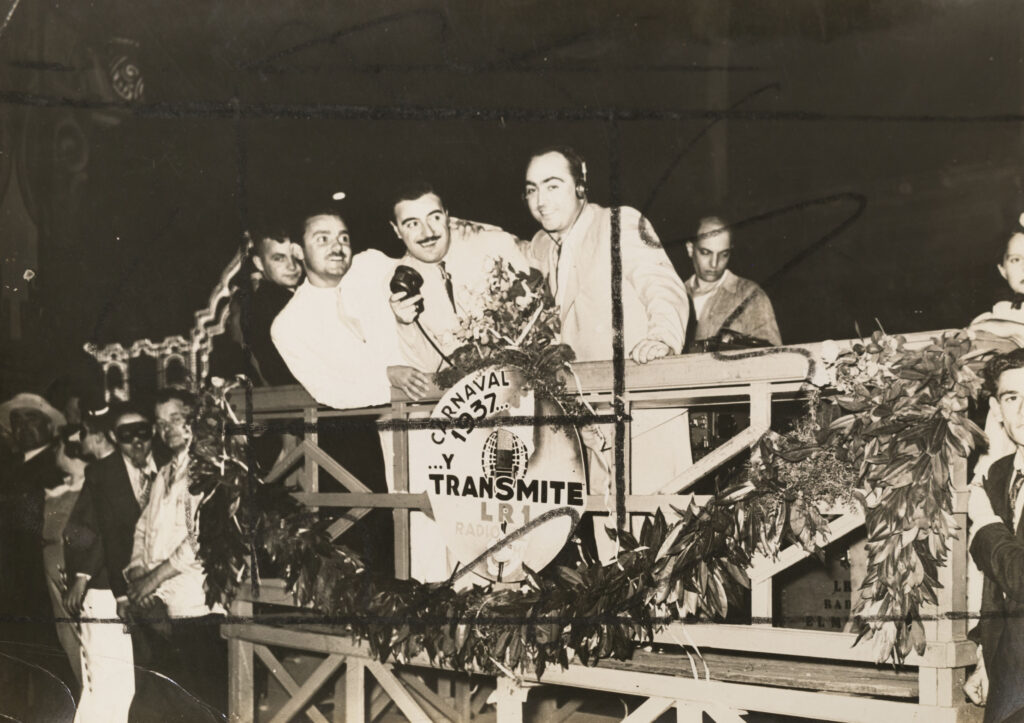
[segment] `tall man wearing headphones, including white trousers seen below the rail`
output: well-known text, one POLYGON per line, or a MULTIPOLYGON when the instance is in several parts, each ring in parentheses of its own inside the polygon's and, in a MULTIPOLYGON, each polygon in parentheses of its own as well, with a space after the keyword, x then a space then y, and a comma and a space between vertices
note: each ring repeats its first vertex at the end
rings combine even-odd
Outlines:
MULTIPOLYGON (((562 341, 580 362, 612 357, 612 254, 618 240, 624 350, 637 364, 678 354, 686 338, 689 301, 686 288, 643 215, 634 208, 604 208, 587 200, 587 164, 572 148, 545 148, 526 168, 524 197, 541 230, 527 258, 544 272, 558 303, 562 341)), ((631 449, 635 494, 656 492, 691 462, 689 418, 685 410, 636 410, 631 449), (683 443, 680 443, 683 441, 683 443)), ((611 484, 610 425, 581 430, 588 448, 591 494, 611 484)), ((594 537, 602 559, 615 546, 594 537)))

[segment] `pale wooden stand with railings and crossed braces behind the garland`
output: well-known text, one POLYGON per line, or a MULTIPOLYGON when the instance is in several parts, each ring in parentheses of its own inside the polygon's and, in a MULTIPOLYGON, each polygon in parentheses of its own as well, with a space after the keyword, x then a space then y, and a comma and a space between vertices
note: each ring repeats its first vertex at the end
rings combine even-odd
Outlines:
MULTIPOLYGON (((929 335, 931 336, 931 335, 929 335)), ((910 343, 927 343, 922 339, 910 343)), ((691 487, 720 465, 745 454, 758 443, 761 433, 772 428, 774 402, 788 403, 806 394, 808 376, 821 372, 820 354, 814 345, 779 349, 769 357, 737 355, 722 364, 714 355, 688 355, 657 359, 637 367, 627 363, 625 392, 627 415, 634 409, 700 409, 723 402, 746 406, 750 427, 724 441, 696 464, 678 471, 656 492, 633 487, 631 422, 626 421, 624 466, 626 512, 638 515, 665 505, 688 505, 691 487)), ((612 396, 612 365, 593 363, 574 366, 583 395, 596 406, 612 396)), ((573 385, 577 379, 573 379, 573 385)), ((427 507, 422 496, 410 493, 409 433, 401 422, 429 412, 436 394, 412 402, 400 394, 390 410, 334 411, 319 408, 301 389, 255 390, 253 419, 268 425, 295 425, 302 440, 294 444, 270 476, 291 475, 302 488, 300 502, 312 508, 347 509, 352 520, 370 508, 387 508, 394 517, 397 579, 412 575, 410 539, 411 510, 427 507), (383 413, 399 423, 394 442, 394 491, 369 495, 364 485, 319 448, 318 424, 329 417, 383 413), (321 474, 337 479, 343 493, 323 494, 321 474)), ((238 400, 243 401, 243 400, 238 400)), ((967 466, 957 460, 951 469, 953 516, 967 527, 967 466)), ((660 484, 660 482, 659 482, 660 484)), ((594 497, 594 496, 591 496, 594 497)), ((589 500, 593 503, 593 500, 589 500)), ((699 502, 697 503, 699 504, 699 502)), ((591 511, 606 508, 603 499, 591 511)), ((829 542, 863 526, 863 517, 837 511, 829 522, 829 542)), ((345 522, 346 526, 353 523, 345 522)), ((344 529, 332 527, 333 537, 344 529)), ((654 649, 638 650, 626 662, 604 661, 595 667, 572 665, 549 667, 538 680, 529 673, 485 676, 446 671, 425 654, 412 661, 381 664, 365 645, 343 631, 304 616, 284 584, 263 581, 259 591, 240 591, 232 605, 233 622, 224 627, 231 667, 231 719, 251 721, 254 666, 270 671, 291 697, 268 720, 285 723, 307 717, 326 723, 375 720, 386 715, 415 721, 500 723, 530 721, 585 721, 581 709, 595 697, 612 701, 614 711, 629 723, 652 723, 675 716, 696 723, 711 717, 716 723, 738 723, 745 713, 829 721, 920 721, 922 723, 967 723, 981 719, 982 709, 967 703, 963 684, 976 661, 976 646, 967 638, 965 580, 967 545, 963 537, 951 541, 948 563, 939 569, 938 602, 922 610, 926 645, 910 652, 899 670, 877 665, 876 646, 855 645, 851 633, 776 628, 776 578, 801 563, 806 551, 787 548, 771 557, 755 556, 748 570, 751 579, 749 609, 754 625, 674 623, 655 635, 654 649), (266 605, 284 605, 280 616, 266 614, 266 605), (254 616, 254 607, 259 614, 254 616), (699 646, 702 656, 695 650, 699 646), (285 670, 279 657, 289 651, 316 658, 309 673, 285 670), (687 651, 690 652, 687 655, 687 651), (528 699, 527 699, 528 698, 528 699), (617 705, 616 705, 617 704, 617 705), (621 706, 621 710, 618 710, 621 706)))

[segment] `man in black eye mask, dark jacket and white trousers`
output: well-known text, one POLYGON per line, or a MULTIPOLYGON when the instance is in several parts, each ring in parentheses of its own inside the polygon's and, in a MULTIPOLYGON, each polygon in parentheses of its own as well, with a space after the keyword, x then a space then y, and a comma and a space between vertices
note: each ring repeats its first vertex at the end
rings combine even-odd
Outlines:
POLYGON ((135 691, 132 665, 138 661, 131 638, 122 626, 109 621, 127 614, 122 570, 131 560, 135 523, 157 463, 153 424, 146 417, 128 408, 110 417, 109 426, 95 416, 85 420, 87 450, 110 450, 89 442, 90 436, 105 430, 117 449, 86 469, 85 484, 69 519, 65 555, 72 582, 65 604, 73 613, 97 621, 82 624, 83 667, 89 675, 79 703, 81 719, 126 721, 135 691))

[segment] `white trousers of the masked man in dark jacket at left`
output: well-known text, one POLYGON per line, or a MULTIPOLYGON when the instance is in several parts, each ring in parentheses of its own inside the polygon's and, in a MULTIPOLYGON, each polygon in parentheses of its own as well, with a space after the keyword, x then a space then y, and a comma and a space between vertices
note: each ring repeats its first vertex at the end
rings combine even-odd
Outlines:
POLYGON ((87 590, 82 603, 82 697, 75 723, 126 723, 135 696, 131 635, 110 590, 87 590))

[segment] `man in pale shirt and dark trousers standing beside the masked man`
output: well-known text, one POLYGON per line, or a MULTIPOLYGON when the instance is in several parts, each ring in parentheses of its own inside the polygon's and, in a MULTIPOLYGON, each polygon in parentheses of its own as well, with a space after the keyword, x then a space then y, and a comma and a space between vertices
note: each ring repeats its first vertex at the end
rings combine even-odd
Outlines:
POLYGON ((125 569, 128 599, 159 618, 166 608, 172 625, 154 640, 153 667, 190 694, 225 711, 227 650, 219 626, 224 610, 206 603, 206 573, 198 558, 201 495, 188 491, 190 417, 196 400, 188 392, 167 389, 157 397, 157 430, 171 451, 135 525, 131 562, 125 569))

